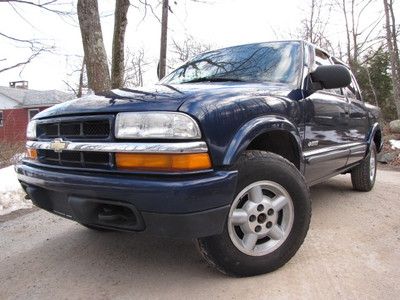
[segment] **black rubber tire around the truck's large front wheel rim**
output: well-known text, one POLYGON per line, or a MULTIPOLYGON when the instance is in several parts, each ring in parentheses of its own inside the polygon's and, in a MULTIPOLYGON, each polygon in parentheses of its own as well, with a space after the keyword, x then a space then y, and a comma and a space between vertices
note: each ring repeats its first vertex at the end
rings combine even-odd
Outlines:
POLYGON ((294 221, 289 235, 271 253, 252 256, 234 245, 229 236, 227 220, 222 234, 197 240, 199 249, 209 264, 231 276, 254 276, 272 272, 295 255, 307 235, 311 219, 309 190, 297 168, 273 153, 246 151, 235 169, 239 171, 236 196, 250 184, 262 180, 276 182, 287 190, 294 207, 294 221))

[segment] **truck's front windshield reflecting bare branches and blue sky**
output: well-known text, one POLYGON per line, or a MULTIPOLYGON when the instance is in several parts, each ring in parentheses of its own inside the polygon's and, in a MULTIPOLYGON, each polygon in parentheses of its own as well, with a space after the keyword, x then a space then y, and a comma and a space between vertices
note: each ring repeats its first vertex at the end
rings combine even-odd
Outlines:
POLYGON ((243 81, 296 85, 300 49, 299 42, 272 42, 215 50, 196 56, 161 83, 243 81))

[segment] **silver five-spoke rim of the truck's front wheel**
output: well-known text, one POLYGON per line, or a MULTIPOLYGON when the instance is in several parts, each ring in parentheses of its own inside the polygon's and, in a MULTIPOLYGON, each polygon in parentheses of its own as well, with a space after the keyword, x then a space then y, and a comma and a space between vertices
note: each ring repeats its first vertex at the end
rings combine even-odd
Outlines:
POLYGON ((276 182, 258 181, 245 187, 233 201, 229 237, 247 255, 266 255, 285 242, 293 220, 293 201, 286 189, 276 182))

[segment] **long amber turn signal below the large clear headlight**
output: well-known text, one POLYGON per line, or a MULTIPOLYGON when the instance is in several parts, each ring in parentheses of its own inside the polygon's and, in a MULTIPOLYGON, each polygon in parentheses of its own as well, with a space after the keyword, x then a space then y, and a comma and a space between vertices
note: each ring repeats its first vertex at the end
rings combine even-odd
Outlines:
POLYGON ((138 154, 116 153, 118 169, 144 171, 198 171, 211 168, 208 153, 138 154))

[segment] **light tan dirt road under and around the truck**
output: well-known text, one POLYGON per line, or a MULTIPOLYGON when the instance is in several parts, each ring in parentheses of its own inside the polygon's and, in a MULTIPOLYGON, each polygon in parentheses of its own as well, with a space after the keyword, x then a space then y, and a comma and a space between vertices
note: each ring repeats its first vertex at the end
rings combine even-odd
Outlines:
POLYGON ((190 241, 98 233, 44 211, 0 219, 0 299, 395 299, 400 295, 400 172, 358 193, 349 176, 311 189, 297 255, 263 276, 229 278, 190 241))

